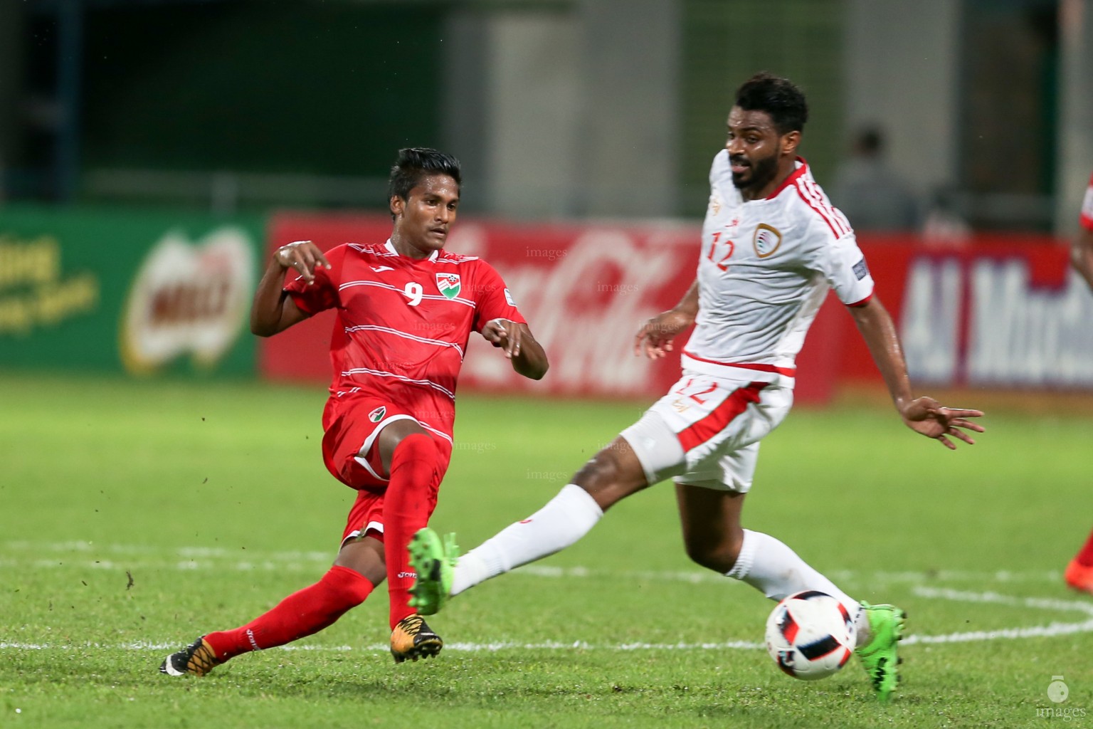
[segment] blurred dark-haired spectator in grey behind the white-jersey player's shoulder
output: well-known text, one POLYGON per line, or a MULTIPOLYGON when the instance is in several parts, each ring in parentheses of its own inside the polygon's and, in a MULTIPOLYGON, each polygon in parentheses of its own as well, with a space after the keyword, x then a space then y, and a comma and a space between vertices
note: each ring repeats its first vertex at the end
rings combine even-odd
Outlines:
POLYGON ((880 129, 867 127, 854 139, 850 157, 835 172, 831 200, 855 231, 914 231, 918 203, 906 180, 884 160, 880 129))

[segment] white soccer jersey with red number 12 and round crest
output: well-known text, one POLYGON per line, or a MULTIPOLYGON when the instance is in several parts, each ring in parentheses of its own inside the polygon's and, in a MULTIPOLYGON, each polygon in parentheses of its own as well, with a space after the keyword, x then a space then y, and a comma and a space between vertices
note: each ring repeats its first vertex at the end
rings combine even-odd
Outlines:
POLYGON ((800 157, 768 198, 745 201, 722 150, 709 187, 698 316, 683 368, 791 386, 795 358, 828 289, 851 306, 872 296, 865 256, 800 157))

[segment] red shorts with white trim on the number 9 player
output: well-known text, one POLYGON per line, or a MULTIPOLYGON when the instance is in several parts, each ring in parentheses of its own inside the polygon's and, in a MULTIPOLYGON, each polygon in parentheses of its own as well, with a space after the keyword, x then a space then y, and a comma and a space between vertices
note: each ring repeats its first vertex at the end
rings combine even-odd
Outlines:
MULTIPOLYGON (((343 543, 346 539, 365 534, 380 541, 384 539, 384 494, 390 474, 379 458, 377 440, 379 432, 397 420, 422 424, 390 400, 366 393, 330 398, 322 412, 322 461, 336 479, 357 491, 342 531, 343 543)), ((451 440, 435 428, 422 426, 433 436, 444 459, 443 468, 447 469, 451 440)), ((435 508, 434 495, 428 513, 432 514, 435 508)))

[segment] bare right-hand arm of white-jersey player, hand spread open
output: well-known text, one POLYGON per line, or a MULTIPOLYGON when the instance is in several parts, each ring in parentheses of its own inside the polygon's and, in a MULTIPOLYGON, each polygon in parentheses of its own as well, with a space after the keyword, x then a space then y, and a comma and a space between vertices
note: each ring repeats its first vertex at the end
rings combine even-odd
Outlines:
POLYGON ((956 448, 950 438, 963 440, 968 445, 974 444, 975 440, 965 431, 983 433, 983 426, 967 419, 979 418, 983 415, 982 411, 945 408, 933 398, 915 398, 912 395, 907 363, 900 346, 895 325, 880 301, 874 296, 862 306, 849 307, 849 311, 869 346, 869 352, 873 355, 873 362, 884 378, 884 384, 904 424, 928 438, 936 438, 945 448, 956 448))

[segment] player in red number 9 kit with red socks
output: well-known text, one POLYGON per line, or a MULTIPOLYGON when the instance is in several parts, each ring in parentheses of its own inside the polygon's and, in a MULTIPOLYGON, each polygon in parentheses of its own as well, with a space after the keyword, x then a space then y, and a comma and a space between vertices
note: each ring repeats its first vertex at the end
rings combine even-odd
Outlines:
POLYGON ((356 490, 356 501, 338 557, 318 583, 246 625, 201 636, 168 656, 163 673, 203 675, 239 654, 312 635, 385 578, 395 661, 439 652, 440 637, 408 605, 415 575, 407 545, 428 522, 448 468, 467 342, 471 332, 481 333, 531 379, 548 368, 497 272, 479 258, 444 250, 459 189, 455 157, 401 150, 389 180, 393 227, 386 243, 345 244, 324 254, 301 240, 273 255, 255 293, 250 329, 270 337, 337 309, 322 458, 334 478, 356 490), (284 282, 290 269, 296 275, 284 282))

